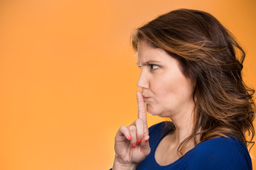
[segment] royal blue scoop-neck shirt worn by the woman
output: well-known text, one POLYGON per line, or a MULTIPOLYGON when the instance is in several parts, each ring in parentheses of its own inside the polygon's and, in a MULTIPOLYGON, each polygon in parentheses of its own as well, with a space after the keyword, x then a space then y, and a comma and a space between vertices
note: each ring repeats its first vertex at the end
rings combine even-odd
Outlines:
MULTIPOLYGON (((218 137, 196 145, 176 162, 161 166, 154 157, 156 147, 165 135, 170 132, 164 128, 165 122, 149 128, 150 154, 142 161, 137 170, 252 170, 252 162, 247 147, 234 137, 218 137)), ((172 123, 169 125, 173 125, 172 123)))

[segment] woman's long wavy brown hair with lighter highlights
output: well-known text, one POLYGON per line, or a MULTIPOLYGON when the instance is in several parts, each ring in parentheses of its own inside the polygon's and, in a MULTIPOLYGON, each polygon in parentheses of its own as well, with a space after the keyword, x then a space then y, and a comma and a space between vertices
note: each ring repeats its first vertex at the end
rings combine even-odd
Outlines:
POLYGON ((131 39, 135 51, 141 40, 165 50, 194 82, 193 130, 179 145, 178 154, 183 156, 189 140, 198 145, 196 136, 199 142, 232 136, 247 147, 255 144, 252 142, 255 91, 242 80, 245 52, 214 16, 204 11, 178 9, 137 28, 131 39))

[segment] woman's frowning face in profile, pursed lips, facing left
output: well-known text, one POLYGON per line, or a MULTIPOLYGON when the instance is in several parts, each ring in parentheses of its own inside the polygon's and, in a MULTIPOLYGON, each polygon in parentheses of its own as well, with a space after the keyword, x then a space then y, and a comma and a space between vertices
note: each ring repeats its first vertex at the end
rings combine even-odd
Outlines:
POLYGON ((142 90, 148 113, 173 117, 191 111, 193 86, 181 72, 178 60, 144 40, 138 43, 137 50, 137 64, 142 69, 137 86, 142 90))

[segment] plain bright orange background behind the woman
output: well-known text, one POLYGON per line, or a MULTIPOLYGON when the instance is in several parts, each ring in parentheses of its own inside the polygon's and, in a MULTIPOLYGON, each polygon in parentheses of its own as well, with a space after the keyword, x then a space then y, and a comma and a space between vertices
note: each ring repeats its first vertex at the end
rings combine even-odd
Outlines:
POLYGON ((177 8, 212 13, 236 36, 256 89, 254 0, 2 0, 0 169, 110 169, 115 133, 137 118, 129 35, 177 8))

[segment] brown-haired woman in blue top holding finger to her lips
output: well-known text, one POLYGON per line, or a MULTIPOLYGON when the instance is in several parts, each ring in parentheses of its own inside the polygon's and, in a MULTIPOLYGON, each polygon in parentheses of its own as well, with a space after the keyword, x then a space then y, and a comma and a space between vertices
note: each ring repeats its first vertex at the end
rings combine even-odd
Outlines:
POLYGON ((119 128, 112 169, 252 169, 254 91, 231 33, 209 13, 179 9, 138 28, 132 45, 139 115, 119 128), (146 111, 171 121, 148 128, 146 111))

